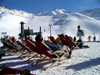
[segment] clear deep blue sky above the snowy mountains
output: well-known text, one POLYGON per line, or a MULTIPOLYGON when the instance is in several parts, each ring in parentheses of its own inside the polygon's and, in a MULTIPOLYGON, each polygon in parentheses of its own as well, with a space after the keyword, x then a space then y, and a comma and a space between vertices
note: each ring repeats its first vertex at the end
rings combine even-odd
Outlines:
POLYGON ((65 9, 80 12, 86 9, 100 8, 100 0, 0 0, 0 6, 22 10, 29 13, 65 9))

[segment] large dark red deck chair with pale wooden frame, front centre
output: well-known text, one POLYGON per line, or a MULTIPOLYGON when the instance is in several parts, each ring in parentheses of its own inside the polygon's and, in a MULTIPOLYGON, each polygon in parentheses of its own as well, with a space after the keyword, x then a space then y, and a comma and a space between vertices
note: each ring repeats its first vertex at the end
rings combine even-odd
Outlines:
MULTIPOLYGON (((43 70, 47 70, 47 69, 49 69, 50 67, 52 67, 53 65, 55 65, 55 64, 62 63, 62 62, 63 62, 62 57, 64 57, 64 56, 69 52, 69 51, 67 51, 67 52, 65 52, 65 51, 56 51, 56 52, 54 52, 53 50, 51 50, 51 49, 50 49, 45 43, 43 43, 43 42, 42 42, 42 43, 41 43, 41 42, 36 42, 35 45, 36 45, 36 48, 37 48, 42 54, 45 55, 45 57, 44 57, 43 59, 41 59, 39 62, 41 62, 42 60, 44 60, 46 57, 50 58, 51 60, 56 59, 56 61, 53 62, 49 67, 47 67, 47 68, 44 68, 44 67, 43 67, 43 68, 42 68, 43 70), (55 56, 53 56, 53 55, 51 55, 50 53, 48 53, 44 46, 46 46, 55 56), (61 55, 61 56, 58 56, 57 53, 62 53, 62 55, 61 55)), ((36 64, 38 64, 38 62, 37 62, 36 64)), ((36 64, 34 64, 34 65, 36 65, 36 64)))

